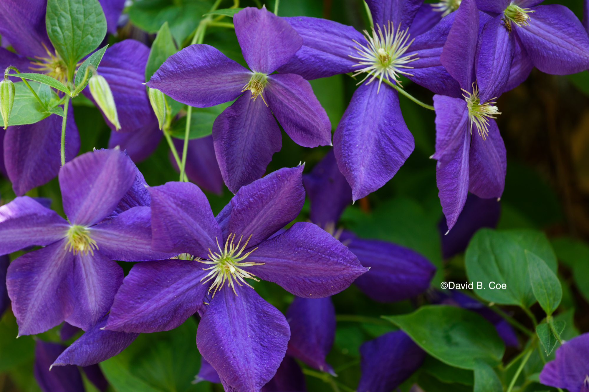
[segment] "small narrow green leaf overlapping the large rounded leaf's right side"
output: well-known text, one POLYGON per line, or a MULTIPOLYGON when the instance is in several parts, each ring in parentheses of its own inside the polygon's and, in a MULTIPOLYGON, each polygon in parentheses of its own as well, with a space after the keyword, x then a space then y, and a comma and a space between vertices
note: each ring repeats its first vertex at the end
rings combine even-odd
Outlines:
POLYGON ((557 276, 540 257, 526 250, 528 273, 532 291, 547 315, 554 312, 562 299, 562 288, 557 276))

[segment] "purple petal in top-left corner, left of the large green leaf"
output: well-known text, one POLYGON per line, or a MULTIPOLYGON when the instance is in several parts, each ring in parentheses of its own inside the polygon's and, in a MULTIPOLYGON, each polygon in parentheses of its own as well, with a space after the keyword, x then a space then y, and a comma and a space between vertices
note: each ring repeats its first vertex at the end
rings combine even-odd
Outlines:
MULTIPOLYGON (((45 27, 45 1, 5 0, 0 4, 0 35, 19 54, 48 57, 45 46, 54 52, 45 27)), ((23 71, 20 69, 21 72, 23 71)))

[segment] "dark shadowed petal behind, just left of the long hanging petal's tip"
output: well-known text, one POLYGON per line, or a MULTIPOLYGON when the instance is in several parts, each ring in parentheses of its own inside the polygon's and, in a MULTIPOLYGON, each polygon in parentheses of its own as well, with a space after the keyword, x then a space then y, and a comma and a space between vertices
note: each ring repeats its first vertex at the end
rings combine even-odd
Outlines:
POLYGON ((337 167, 333 149, 309 174, 303 175, 303 184, 311 202, 309 219, 319 227, 336 224, 352 202, 352 188, 337 167))

